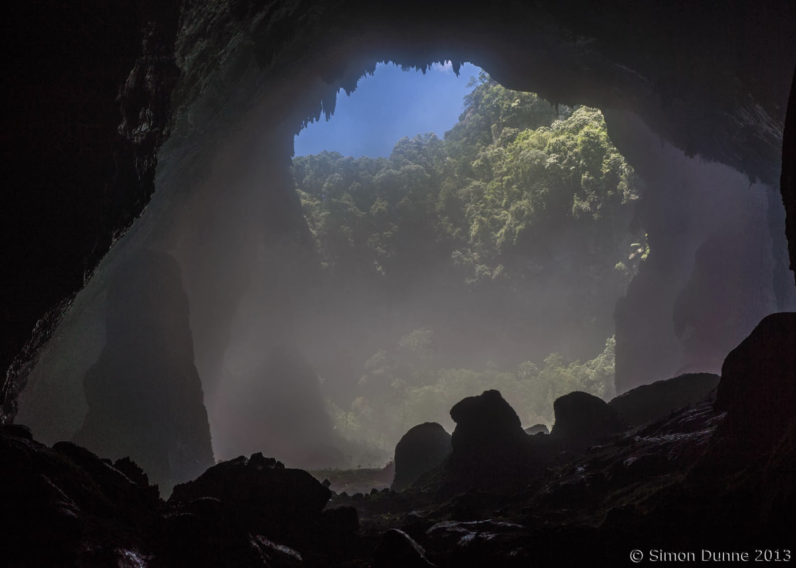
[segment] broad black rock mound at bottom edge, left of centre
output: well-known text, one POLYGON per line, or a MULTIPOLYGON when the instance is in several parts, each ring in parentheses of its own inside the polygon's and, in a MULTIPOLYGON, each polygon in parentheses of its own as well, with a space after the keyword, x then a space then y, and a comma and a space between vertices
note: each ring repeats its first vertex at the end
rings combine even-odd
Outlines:
POLYGON ((318 566, 355 547, 353 508, 324 511, 331 492, 302 469, 256 453, 174 488, 162 521, 170 565, 318 566))

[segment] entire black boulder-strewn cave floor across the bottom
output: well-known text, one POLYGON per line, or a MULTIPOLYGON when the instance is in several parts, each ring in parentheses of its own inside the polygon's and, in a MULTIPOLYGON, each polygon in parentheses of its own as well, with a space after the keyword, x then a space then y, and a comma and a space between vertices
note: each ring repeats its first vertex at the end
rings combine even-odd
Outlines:
MULTIPOLYGON (((451 410, 451 453, 403 492, 335 494, 254 454, 162 500, 127 458, 48 448, 5 426, 0 562, 619 566, 632 550, 784 560, 796 552, 794 345, 796 313, 765 318, 707 397, 635 426, 573 393, 556 401, 551 434, 530 436, 497 391, 464 399, 451 410)), ((625 402, 665 398, 640 392, 625 402)))

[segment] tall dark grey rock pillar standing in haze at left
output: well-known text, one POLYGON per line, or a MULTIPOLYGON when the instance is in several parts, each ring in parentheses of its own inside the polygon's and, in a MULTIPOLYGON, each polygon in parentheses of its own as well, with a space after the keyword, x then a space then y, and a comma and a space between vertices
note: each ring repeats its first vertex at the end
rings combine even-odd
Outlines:
POLYGON ((105 334, 85 376, 88 414, 74 440, 131 457, 168 493, 213 465, 176 260, 154 251, 127 260, 108 290, 105 334))

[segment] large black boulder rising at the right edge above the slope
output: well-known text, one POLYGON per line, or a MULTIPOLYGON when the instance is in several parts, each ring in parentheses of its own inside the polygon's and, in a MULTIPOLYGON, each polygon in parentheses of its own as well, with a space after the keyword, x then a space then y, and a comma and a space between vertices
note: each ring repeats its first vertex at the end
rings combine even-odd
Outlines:
POLYGON ((764 317, 724 359, 716 410, 723 438, 763 453, 782 438, 796 408, 796 313, 764 317))

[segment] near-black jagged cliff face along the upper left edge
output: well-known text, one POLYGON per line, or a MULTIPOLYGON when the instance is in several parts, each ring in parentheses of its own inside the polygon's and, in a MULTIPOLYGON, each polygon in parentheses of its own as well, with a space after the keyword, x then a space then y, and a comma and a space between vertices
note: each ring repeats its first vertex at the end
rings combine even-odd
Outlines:
POLYGON ((178 2, 7 13, 2 422, 71 298, 154 191, 178 15, 178 2))

